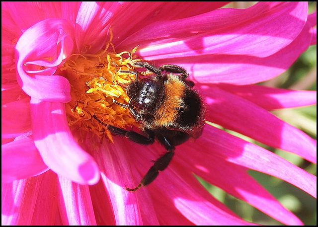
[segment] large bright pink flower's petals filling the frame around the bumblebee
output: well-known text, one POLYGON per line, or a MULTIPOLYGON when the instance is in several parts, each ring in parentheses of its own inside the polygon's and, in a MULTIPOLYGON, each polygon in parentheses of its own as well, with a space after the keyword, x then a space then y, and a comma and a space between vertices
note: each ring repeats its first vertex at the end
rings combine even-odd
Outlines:
POLYGON ((132 193, 123 187, 136 186, 163 148, 118 136, 101 143, 75 127, 95 122, 71 119, 84 104, 72 106, 81 95, 78 77, 65 70, 79 56, 102 58, 96 53, 110 43, 111 29, 116 53, 139 45, 135 56, 185 68, 207 121, 316 163, 316 141, 269 112, 316 104, 316 91, 254 84, 283 73, 316 44, 316 12, 308 15, 307 2, 219 8, 224 4, 2 2, 2 225, 250 224, 193 173, 284 224, 302 224, 246 171, 315 198, 316 176, 257 145, 206 124, 153 183, 132 193))

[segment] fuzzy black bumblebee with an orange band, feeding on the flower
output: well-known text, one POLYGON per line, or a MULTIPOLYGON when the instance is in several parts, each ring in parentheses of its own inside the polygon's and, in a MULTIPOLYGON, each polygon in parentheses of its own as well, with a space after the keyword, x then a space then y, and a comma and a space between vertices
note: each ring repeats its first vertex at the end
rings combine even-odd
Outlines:
POLYGON ((142 125, 144 135, 117 128, 101 122, 95 115, 92 117, 106 127, 111 133, 143 145, 150 145, 157 140, 166 152, 161 155, 148 170, 140 183, 128 191, 136 191, 141 186, 153 182, 171 161, 175 146, 183 144, 189 138, 198 138, 204 127, 205 106, 198 92, 192 87, 194 82, 188 80, 188 73, 176 65, 156 67, 148 62, 134 61, 135 68, 145 68, 152 75, 139 79, 140 73, 120 71, 134 74, 136 79, 125 86, 130 98, 128 104, 114 103, 124 108, 142 125))

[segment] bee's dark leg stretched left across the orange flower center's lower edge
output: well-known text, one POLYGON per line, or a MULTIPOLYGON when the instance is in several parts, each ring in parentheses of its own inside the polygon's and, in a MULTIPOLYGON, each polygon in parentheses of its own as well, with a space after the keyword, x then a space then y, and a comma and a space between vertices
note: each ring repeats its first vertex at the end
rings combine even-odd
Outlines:
POLYGON ((101 120, 99 120, 95 114, 92 117, 99 124, 105 126, 105 128, 107 130, 109 130, 111 133, 118 135, 118 136, 126 137, 127 139, 129 139, 135 143, 149 145, 149 144, 153 144, 155 142, 155 136, 153 134, 151 134, 150 132, 147 134, 147 137, 146 137, 146 136, 139 134, 137 132, 134 132, 134 131, 128 131, 128 130, 121 129, 121 128, 118 128, 118 127, 113 126, 113 125, 106 124, 106 123, 102 122, 101 120))

